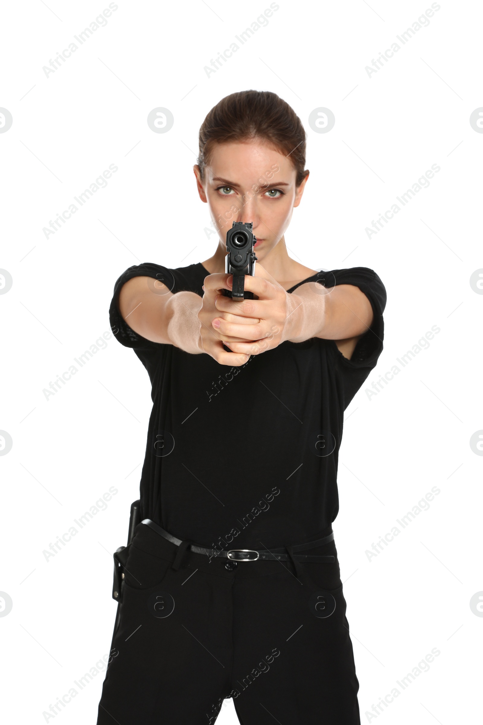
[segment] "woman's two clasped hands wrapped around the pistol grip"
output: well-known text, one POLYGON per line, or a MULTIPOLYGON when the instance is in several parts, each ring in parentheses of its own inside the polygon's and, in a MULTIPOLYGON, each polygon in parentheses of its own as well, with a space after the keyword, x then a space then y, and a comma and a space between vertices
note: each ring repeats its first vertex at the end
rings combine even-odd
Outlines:
POLYGON ((222 277, 230 289, 232 275, 210 275, 205 280, 205 290, 210 289, 212 300, 209 323, 232 352, 259 355, 296 335, 301 316, 298 308, 303 300, 288 294, 260 264, 256 264, 254 277, 245 275, 245 290, 258 299, 237 302, 224 297, 217 290, 217 282, 211 280, 215 277, 222 277))

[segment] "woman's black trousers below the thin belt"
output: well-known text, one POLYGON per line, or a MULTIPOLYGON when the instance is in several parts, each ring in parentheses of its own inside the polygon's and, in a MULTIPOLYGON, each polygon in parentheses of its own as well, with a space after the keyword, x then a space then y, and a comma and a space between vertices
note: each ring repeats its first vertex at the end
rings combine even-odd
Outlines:
POLYGON ((227 697, 241 725, 360 725, 335 542, 298 571, 180 548, 135 529, 97 725, 211 725, 227 697))

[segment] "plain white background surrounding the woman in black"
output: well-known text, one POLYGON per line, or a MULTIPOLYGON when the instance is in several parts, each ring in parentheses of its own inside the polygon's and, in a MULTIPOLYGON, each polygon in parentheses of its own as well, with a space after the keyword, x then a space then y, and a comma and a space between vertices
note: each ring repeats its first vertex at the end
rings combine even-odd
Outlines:
MULTIPOLYGON (((0 589, 13 601, 0 618, 4 720, 45 722, 109 653, 112 552, 126 543, 151 411, 146 370, 114 337, 49 400, 43 389, 109 331, 127 267, 214 252, 192 170, 198 128, 223 96, 256 88, 284 98, 308 134, 311 175, 286 233, 290 253, 310 268, 372 268, 387 289, 385 348, 346 413, 334 524, 361 722, 474 721, 483 618, 469 602, 483 589, 483 458, 469 439, 483 428, 483 296, 469 278, 483 268, 483 134, 469 117, 483 106, 481 5, 442 1, 369 77, 365 67, 431 3, 280 0, 207 77, 203 67, 268 1, 120 0, 47 78, 43 66, 108 3, 47 4, 4 7, 0 43, 0 106, 13 117, 0 134, 0 267, 13 278, 0 296, 0 428, 13 440, 0 457, 0 589), (148 128, 155 107, 174 115, 168 133, 148 128), (329 133, 308 125, 317 107, 335 114, 329 133), (46 239, 43 227, 110 164, 106 188, 46 239), (365 228, 433 164, 430 186, 368 239, 365 228), (432 326, 429 348, 369 399, 366 387, 432 326), (106 510, 47 562, 43 550, 109 486, 118 492, 106 510), (432 486, 429 510, 369 560, 432 486), (374 716, 372 704, 434 647, 429 671, 374 716)), ((103 680, 99 671, 49 722, 95 722, 103 680)), ((231 700, 218 722, 238 722, 231 700)))

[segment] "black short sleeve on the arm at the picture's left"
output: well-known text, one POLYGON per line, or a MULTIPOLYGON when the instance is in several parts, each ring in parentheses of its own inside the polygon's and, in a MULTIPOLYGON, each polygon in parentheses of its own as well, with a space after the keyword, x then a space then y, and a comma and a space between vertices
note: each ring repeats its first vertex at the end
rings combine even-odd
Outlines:
MULTIPOLYGON (((119 293, 122 285, 133 277, 151 277, 152 291, 155 294, 167 294, 167 292, 176 292, 187 289, 194 291, 193 283, 190 283, 187 276, 183 273, 183 268, 170 269, 163 265, 157 265, 153 262, 143 262, 140 265, 133 265, 128 268, 117 279, 114 284, 114 294, 112 296, 111 305, 109 307, 109 322, 116 339, 125 347, 132 347, 135 350, 159 350, 166 345, 161 342, 154 342, 138 335, 131 328, 119 312, 119 293), (162 284, 156 283, 156 281, 162 284)), ((150 283, 148 282, 148 285, 150 283)))

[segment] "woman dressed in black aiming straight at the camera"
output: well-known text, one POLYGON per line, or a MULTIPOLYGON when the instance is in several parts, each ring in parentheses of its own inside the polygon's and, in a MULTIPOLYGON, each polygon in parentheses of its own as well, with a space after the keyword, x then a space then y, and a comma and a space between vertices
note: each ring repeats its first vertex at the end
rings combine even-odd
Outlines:
POLYGON ((98 725, 211 723, 227 697, 244 725, 360 723, 332 521, 343 412, 382 351, 386 295, 368 268, 288 256, 305 139, 276 94, 219 101, 194 167, 216 251, 116 282, 112 328, 154 405, 98 725), (257 239, 241 302, 222 294, 233 222, 257 239))

